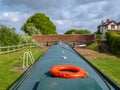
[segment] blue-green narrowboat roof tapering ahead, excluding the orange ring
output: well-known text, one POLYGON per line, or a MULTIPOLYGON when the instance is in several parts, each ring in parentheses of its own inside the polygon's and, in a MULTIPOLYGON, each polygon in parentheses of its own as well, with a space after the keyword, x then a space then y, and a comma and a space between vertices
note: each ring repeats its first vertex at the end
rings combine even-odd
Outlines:
MULTIPOLYGON (((119 87, 118 87, 119 88, 119 87)), ((81 55, 65 43, 56 43, 33 64, 10 90, 117 90, 81 55), (74 65, 85 69, 85 78, 63 79, 53 77, 50 68, 55 65, 74 65)), ((119 90, 119 89, 118 89, 119 90)))

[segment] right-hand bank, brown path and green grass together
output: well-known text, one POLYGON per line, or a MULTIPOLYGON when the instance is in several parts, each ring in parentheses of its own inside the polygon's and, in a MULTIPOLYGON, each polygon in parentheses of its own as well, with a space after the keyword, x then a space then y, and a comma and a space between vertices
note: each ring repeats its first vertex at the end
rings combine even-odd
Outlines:
POLYGON ((120 86, 120 58, 111 53, 100 53, 94 50, 84 49, 80 52, 87 60, 96 66, 101 72, 120 86), (89 54, 88 54, 89 52, 89 54))

